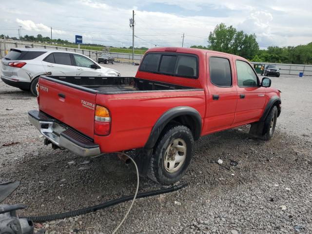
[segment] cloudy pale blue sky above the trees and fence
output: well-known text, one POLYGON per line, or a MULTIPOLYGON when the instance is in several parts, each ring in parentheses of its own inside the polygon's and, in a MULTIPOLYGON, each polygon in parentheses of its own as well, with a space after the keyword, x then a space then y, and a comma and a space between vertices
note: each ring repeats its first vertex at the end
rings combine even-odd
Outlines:
POLYGON ((255 34, 259 47, 312 42, 312 0, 11 0, 0 4, 0 34, 41 34, 115 47, 207 46, 219 23, 255 34))

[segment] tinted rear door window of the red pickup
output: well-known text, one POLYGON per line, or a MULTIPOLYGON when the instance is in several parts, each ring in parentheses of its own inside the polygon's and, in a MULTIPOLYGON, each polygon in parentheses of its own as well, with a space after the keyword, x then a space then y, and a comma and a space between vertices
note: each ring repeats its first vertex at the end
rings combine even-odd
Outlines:
POLYGON ((215 86, 232 86, 231 66, 229 59, 210 57, 209 72, 210 80, 215 86))

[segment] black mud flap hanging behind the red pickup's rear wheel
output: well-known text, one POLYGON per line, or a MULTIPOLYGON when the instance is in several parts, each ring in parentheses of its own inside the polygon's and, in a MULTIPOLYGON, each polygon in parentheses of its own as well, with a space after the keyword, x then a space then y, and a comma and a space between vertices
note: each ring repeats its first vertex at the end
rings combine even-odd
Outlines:
POLYGON ((136 149, 136 157, 134 158, 134 160, 137 163, 138 173, 142 177, 145 177, 147 175, 152 154, 153 149, 136 149))

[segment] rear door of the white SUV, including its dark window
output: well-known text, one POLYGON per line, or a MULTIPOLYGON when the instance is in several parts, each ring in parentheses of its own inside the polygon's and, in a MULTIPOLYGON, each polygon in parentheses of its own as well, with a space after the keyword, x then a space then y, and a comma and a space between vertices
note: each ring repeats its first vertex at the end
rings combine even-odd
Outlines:
POLYGON ((42 65, 50 76, 77 76, 77 67, 69 53, 51 53, 42 60, 42 65))

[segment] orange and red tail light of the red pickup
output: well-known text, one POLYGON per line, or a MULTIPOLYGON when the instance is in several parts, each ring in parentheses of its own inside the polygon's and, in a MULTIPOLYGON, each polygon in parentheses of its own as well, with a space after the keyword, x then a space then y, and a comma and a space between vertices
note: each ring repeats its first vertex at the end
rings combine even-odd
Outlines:
POLYGON ((109 110, 103 106, 96 106, 94 117, 94 133, 100 136, 107 136, 111 131, 111 117, 109 110))

